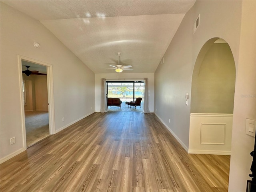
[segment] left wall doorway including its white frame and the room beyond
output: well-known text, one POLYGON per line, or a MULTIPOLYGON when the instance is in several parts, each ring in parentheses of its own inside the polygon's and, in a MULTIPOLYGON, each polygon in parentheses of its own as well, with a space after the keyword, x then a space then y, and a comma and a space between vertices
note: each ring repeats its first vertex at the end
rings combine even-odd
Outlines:
POLYGON ((24 148, 54 134, 52 65, 18 56, 24 148))

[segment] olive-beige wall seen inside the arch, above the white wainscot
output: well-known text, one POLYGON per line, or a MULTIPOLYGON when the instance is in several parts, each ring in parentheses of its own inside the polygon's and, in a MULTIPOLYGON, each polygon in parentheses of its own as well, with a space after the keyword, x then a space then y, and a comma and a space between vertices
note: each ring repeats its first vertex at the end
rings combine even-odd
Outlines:
POLYGON ((199 65, 193 72, 190 111, 232 114, 236 69, 228 44, 213 43, 199 65))

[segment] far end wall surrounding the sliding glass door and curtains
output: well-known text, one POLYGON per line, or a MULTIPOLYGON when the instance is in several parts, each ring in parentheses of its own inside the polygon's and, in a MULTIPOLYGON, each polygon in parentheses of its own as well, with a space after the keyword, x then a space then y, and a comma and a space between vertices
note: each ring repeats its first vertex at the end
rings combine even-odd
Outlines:
POLYGON ((106 74, 95 74, 95 111, 100 112, 100 94, 101 94, 101 78, 105 79, 143 79, 149 78, 148 90, 150 91, 148 97, 148 105, 150 112, 154 112, 154 73, 106 73, 106 74))

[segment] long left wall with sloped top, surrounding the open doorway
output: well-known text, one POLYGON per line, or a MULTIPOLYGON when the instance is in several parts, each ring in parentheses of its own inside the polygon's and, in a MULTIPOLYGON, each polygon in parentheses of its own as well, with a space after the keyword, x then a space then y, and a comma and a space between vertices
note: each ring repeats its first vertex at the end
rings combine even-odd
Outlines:
POLYGON ((52 64, 55 130, 95 111, 94 73, 39 21, 1 3, 1 162, 24 150, 18 55, 52 64), (33 43, 39 42, 40 48, 33 43), (62 117, 65 121, 62 122, 62 117), (10 138, 16 143, 10 145, 10 138))

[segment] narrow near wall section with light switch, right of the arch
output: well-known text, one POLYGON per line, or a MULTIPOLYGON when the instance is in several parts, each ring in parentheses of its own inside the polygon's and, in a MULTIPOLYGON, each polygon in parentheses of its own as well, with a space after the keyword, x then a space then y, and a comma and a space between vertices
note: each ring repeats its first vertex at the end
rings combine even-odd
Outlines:
POLYGON ((229 191, 246 191, 254 138, 245 134, 246 118, 256 120, 256 1, 242 2, 240 46, 236 68, 236 87, 229 191))

